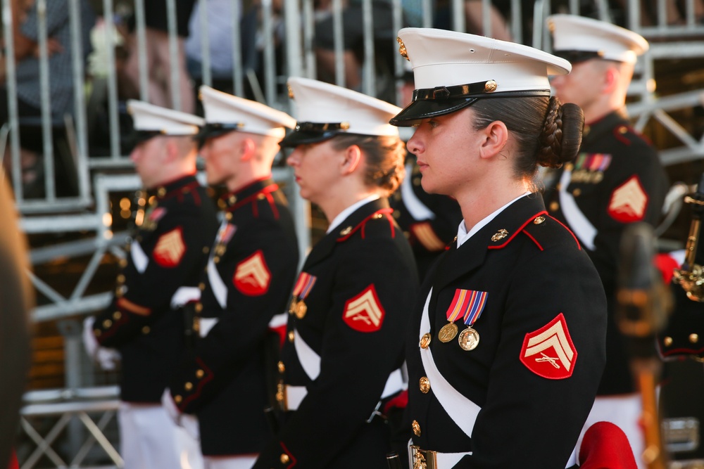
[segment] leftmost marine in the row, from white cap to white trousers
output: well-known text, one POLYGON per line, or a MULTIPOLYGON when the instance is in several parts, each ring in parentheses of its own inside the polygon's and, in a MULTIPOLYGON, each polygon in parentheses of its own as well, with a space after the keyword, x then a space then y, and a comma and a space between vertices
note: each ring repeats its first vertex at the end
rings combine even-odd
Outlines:
POLYGON ((151 198, 137 220, 130 256, 121 262, 113 301, 85 319, 83 340, 103 368, 122 364, 118 421, 125 468, 197 468, 196 442, 172 422, 161 397, 192 347, 189 304, 199 300, 203 250, 218 226, 215 205, 195 176, 194 136, 203 120, 143 101, 130 101, 128 109, 138 142, 131 158, 151 198))

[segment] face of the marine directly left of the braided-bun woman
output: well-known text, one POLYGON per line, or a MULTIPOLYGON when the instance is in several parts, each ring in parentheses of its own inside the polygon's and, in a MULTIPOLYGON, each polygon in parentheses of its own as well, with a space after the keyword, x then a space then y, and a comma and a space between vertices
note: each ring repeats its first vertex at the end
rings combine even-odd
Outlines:
POLYGON ((334 191, 340 178, 337 158, 344 150, 335 150, 330 140, 298 145, 286 162, 294 169, 301 197, 320 205, 334 191))

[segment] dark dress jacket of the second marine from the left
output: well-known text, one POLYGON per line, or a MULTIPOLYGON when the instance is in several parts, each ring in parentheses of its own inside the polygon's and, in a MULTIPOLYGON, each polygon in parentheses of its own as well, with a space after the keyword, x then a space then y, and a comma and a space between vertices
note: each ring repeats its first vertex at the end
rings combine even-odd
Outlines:
POLYGON ((270 437, 268 324, 285 310, 298 267, 294 222, 272 180, 227 194, 220 205, 225 220, 196 304, 202 318, 218 322, 196 341, 170 386, 179 409, 198 416, 206 456, 257 453, 270 437))

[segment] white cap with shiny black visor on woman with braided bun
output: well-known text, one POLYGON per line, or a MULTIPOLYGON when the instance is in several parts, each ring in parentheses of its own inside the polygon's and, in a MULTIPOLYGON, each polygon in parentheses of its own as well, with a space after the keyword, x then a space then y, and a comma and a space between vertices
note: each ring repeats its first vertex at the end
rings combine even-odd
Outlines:
POLYGON ((548 75, 572 70, 539 49, 464 32, 406 27, 398 44, 413 68, 415 91, 394 125, 453 113, 477 99, 549 96, 548 75))

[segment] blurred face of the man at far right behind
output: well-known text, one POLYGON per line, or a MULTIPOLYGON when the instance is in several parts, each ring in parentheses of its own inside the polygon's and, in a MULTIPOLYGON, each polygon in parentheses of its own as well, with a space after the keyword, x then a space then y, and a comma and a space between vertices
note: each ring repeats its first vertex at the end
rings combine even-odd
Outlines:
POLYGON ((560 102, 574 103, 583 110, 589 110, 600 94, 603 75, 601 61, 585 60, 572 65, 569 74, 552 77, 550 84, 560 102))

